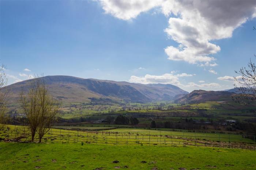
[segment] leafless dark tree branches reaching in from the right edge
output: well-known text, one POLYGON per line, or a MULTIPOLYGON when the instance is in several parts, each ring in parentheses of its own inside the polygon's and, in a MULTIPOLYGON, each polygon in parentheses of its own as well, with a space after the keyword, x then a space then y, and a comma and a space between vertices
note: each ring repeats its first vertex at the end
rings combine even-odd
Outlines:
MULTIPOLYGON (((256 58, 256 56, 255 56, 256 58)), ((238 84, 237 87, 239 95, 234 97, 238 103, 250 104, 256 100, 256 65, 250 59, 246 67, 241 67, 239 71, 235 71, 240 76, 234 77, 238 84)))

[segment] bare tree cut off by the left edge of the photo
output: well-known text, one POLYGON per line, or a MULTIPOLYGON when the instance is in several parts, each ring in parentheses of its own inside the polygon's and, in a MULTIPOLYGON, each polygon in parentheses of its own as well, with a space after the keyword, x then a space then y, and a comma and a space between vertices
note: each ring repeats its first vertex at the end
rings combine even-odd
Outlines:
POLYGON ((7 123, 8 117, 6 115, 6 103, 5 99, 8 93, 8 90, 6 89, 7 85, 7 77, 4 73, 5 67, 4 65, 0 66, 0 130, 5 127, 5 124, 7 123))

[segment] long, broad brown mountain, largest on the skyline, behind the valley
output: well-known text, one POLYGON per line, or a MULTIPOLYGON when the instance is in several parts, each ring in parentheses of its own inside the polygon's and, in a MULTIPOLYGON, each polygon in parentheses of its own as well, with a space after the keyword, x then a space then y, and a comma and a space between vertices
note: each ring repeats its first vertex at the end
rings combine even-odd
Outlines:
MULTIPOLYGON (((172 100, 177 94, 188 92, 170 84, 136 84, 110 80, 84 79, 72 76, 45 76, 50 94, 62 102, 88 102, 91 98, 110 98, 138 103, 172 100)), ((21 89, 29 90, 29 81, 7 86, 8 101, 17 102, 21 89)))

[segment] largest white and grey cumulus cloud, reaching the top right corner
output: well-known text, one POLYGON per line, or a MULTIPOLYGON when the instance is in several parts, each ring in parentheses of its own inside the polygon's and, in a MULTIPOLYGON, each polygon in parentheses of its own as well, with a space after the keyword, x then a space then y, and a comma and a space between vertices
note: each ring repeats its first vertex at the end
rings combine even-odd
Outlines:
POLYGON ((211 40, 230 38, 234 29, 256 17, 255 0, 100 0, 106 13, 130 20, 152 8, 161 8, 169 18, 167 35, 177 47, 168 46, 168 59, 198 66, 217 66, 212 54, 221 47, 211 40))

